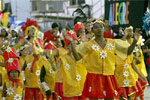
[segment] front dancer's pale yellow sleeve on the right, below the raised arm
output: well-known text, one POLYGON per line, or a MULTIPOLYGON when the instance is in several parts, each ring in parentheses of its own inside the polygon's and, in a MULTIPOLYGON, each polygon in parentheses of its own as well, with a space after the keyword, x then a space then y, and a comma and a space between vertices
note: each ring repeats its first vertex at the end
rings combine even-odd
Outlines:
POLYGON ((123 60, 127 58, 129 43, 120 39, 115 39, 116 54, 123 60))

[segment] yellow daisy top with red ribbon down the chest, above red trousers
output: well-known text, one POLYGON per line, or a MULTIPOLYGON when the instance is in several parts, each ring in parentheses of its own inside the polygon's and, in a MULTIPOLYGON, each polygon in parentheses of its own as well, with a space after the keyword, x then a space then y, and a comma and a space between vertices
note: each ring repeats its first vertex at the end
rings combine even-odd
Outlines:
POLYGON ((32 55, 26 56, 25 61, 27 67, 25 68, 25 87, 28 88, 40 88, 40 73, 41 68, 45 65, 46 58, 40 56, 39 59, 34 63, 33 72, 31 72, 31 66, 34 57, 32 55))

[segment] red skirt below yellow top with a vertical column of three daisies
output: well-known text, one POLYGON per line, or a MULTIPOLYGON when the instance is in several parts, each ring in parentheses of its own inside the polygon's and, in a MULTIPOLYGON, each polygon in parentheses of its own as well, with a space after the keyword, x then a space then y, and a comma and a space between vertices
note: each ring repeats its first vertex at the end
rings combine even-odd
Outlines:
POLYGON ((138 88, 136 86, 132 87, 121 87, 121 96, 123 99, 127 100, 128 96, 135 95, 138 92, 138 88))

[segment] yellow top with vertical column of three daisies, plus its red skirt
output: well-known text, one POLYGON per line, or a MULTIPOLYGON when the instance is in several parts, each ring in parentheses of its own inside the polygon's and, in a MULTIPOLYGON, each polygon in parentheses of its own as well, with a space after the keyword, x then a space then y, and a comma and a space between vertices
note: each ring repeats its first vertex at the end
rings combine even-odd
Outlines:
POLYGON ((138 75, 133 70, 132 63, 133 54, 129 55, 125 60, 116 55, 115 77, 119 87, 121 87, 121 95, 125 100, 128 99, 128 96, 138 92, 136 87, 138 75))

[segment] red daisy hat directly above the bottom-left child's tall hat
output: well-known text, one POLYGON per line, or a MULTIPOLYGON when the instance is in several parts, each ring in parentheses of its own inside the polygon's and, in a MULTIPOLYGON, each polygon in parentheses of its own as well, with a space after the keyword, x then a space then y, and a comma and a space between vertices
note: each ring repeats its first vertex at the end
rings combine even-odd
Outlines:
POLYGON ((17 58, 19 57, 18 53, 14 48, 7 47, 7 49, 4 51, 3 56, 5 60, 8 60, 9 58, 17 58))

